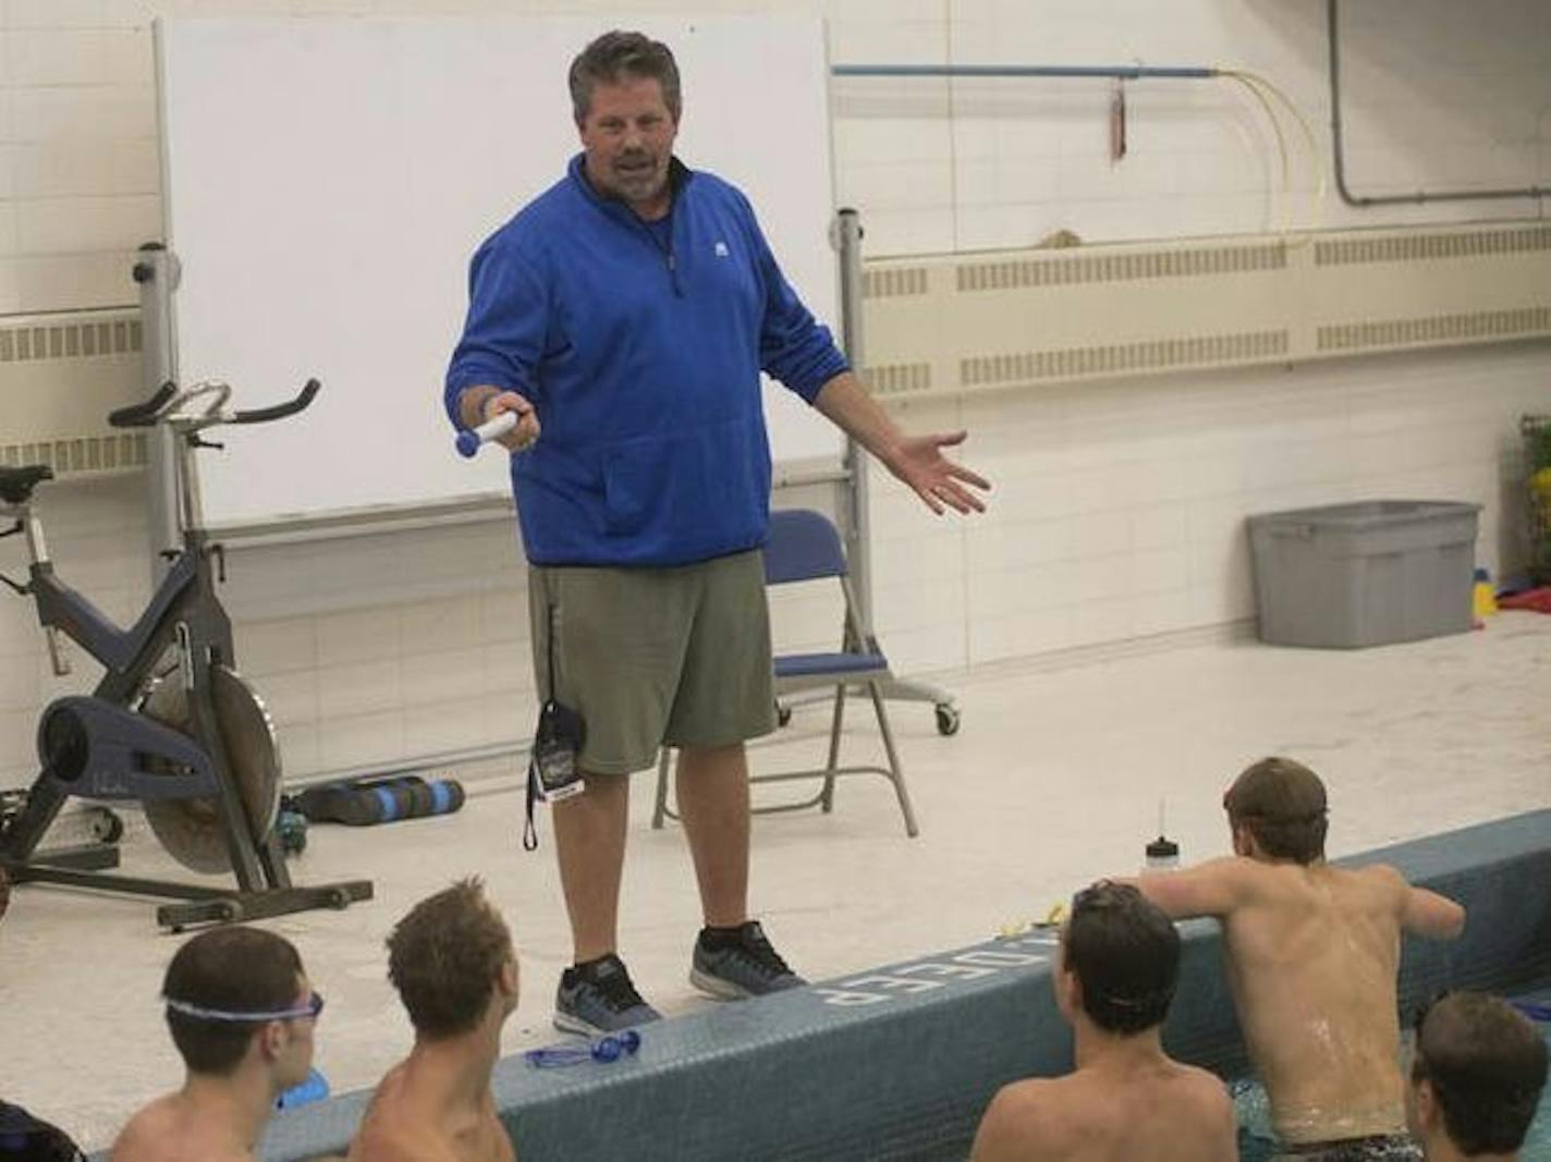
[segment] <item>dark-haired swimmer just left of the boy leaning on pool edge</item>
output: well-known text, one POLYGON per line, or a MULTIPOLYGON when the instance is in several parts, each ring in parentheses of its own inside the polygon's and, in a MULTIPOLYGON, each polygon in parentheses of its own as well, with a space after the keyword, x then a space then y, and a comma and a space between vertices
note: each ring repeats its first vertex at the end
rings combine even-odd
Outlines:
POLYGON ((1078 892, 1053 974, 1076 1072, 1003 1086, 972 1162, 1236 1162, 1222 1081, 1163 1052, 1179 954, 1174 925, 1135 887, 1078 892))

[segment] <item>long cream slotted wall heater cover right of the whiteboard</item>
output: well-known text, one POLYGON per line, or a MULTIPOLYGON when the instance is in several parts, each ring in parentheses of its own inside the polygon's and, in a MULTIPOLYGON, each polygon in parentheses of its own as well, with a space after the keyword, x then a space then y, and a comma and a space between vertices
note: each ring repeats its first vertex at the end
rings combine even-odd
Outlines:
POLYGON ((895 399, 1551 338, 1539 222, 878 259, 867 273, 878 289, 924 284, 865 301, 873 386, 895 399))

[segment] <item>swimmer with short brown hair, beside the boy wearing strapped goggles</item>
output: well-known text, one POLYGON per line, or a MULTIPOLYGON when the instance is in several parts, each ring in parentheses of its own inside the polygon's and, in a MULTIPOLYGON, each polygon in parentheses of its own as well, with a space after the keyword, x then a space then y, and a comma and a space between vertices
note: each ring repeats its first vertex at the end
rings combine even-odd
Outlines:
POLYGON ((512 934, 479 880, 417 903, 388 937, 414 1049, 377 1086, 351 1162, 515 1162, 490 1072, 516 1010, 512 934))

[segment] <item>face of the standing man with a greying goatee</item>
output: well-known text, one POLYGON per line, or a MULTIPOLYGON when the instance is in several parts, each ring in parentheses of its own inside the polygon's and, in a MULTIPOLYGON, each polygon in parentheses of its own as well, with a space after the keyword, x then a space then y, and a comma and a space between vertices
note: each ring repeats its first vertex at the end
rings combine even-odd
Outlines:
POLYGON ((637 214, 667 209, 668 161, 678 123, 655 79, 625 78, 596 84, 580 126, 586 175, 592 188, 617 197, 637 214))

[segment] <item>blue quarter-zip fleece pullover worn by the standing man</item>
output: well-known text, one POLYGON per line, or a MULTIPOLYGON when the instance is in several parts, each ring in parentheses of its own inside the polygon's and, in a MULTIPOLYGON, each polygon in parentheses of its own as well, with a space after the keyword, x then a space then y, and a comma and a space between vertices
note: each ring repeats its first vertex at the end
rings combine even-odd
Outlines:
POLYGON ((599 197, 582 155, 475 253, 445 403, 521 393, 543 434, 512 456, 535 565, 675 566, 755 548, 769 521, 760 369, 810 403, 845 371, 748 199, 673 164, 667 242, 599 197))

